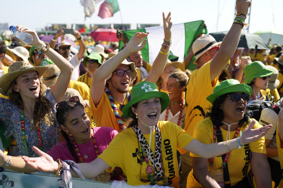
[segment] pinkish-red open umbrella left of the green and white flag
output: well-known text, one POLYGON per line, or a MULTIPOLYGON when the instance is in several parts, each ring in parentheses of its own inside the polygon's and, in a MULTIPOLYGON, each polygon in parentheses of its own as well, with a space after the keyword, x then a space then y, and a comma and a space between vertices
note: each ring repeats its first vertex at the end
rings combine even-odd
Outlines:
POLYGON ((90 36, 95 41, 110 41, 110 42, 118 42, 119 39, 116 37, 117 29, 105 29, 105 28, 98 28, 93 31, 90 36))

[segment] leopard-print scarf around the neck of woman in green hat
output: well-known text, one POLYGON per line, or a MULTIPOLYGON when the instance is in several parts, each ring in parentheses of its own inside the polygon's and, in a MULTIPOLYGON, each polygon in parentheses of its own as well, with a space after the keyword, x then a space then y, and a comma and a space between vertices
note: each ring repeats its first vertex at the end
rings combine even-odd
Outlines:
POLYGON ((165 177, 165 173, 161 167, 161 135, 158 125, 155 125, 155 156, 153 155, 147 140, 137 125, 135 126, 135 132, 139 143, 144 148, 146 155, 150 155, 149 161, 154 167, 154 178, 162 177, 162 175, 165 177))

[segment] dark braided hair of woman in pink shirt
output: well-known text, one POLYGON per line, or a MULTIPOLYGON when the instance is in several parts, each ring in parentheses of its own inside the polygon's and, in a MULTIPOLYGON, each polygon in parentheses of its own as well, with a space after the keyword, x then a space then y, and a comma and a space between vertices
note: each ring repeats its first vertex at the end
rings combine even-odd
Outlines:
MULTIPOLYGON (((68 116, 68 112, 70 110, 73 110, 77 106, 79 106, 80 108, 82 108, 84 110, 84 107, 81 103, 68 103, 65 108, 57 109, 56 118, 57 118, 58 124, 63 125, 65 127, 65 125, 66 125, 65 121, 66 121, 66 117, 68 116)), ((75 158, 76 162, 79 163, 78 156, 77 156, 77 154, 76 154, 76 152, 73 148, 73 145, 71 143, 71 140, 70 140, 68 134, 63 129, 61 129, 61 133, 62 133, 63 137, 65 138, 65 140, 67 142, 67 146, 68 146, 70 153, 75 158)))

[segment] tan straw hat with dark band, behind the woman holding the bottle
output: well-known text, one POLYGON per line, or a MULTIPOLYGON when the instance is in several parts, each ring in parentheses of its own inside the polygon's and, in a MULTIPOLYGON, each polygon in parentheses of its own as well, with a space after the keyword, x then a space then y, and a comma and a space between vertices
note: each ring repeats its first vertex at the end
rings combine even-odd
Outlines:
POLYGON ((49 64, 46 65, 46 67, 48 67, 48 69, 42 75, 41 80, 48 88, 51 88, 57 82, 61 71, 55 64, 49 64))

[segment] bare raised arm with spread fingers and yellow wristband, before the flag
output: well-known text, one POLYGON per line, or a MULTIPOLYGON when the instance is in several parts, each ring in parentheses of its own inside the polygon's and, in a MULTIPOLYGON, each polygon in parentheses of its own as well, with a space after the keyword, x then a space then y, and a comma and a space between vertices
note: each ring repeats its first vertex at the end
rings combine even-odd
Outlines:
MULTIPOLYGON (((162 13, 162 15, 163 15, 164 41, 169 42, 171 41, 171 27, 172 27, 172 22, 170 22, 171 12, 169 12, 166 18, 164 12, 162 13)), ((145 78, 144 81, 155 83, 157 82, 159 76, 163 73, 166 61, 168 59, 169 48, 170 48, 170 47, 166 47, 166 48, 165 47, 166 46, 161 47, 160 51, 162 51, 163 53, 161 52, 158 53, 157 57, 155 58, 152 64, 152 68, 148 73, 147 78, 145 78), (165 55, 164 53, 165 54, 168 53, 168 54, 165 55)))

